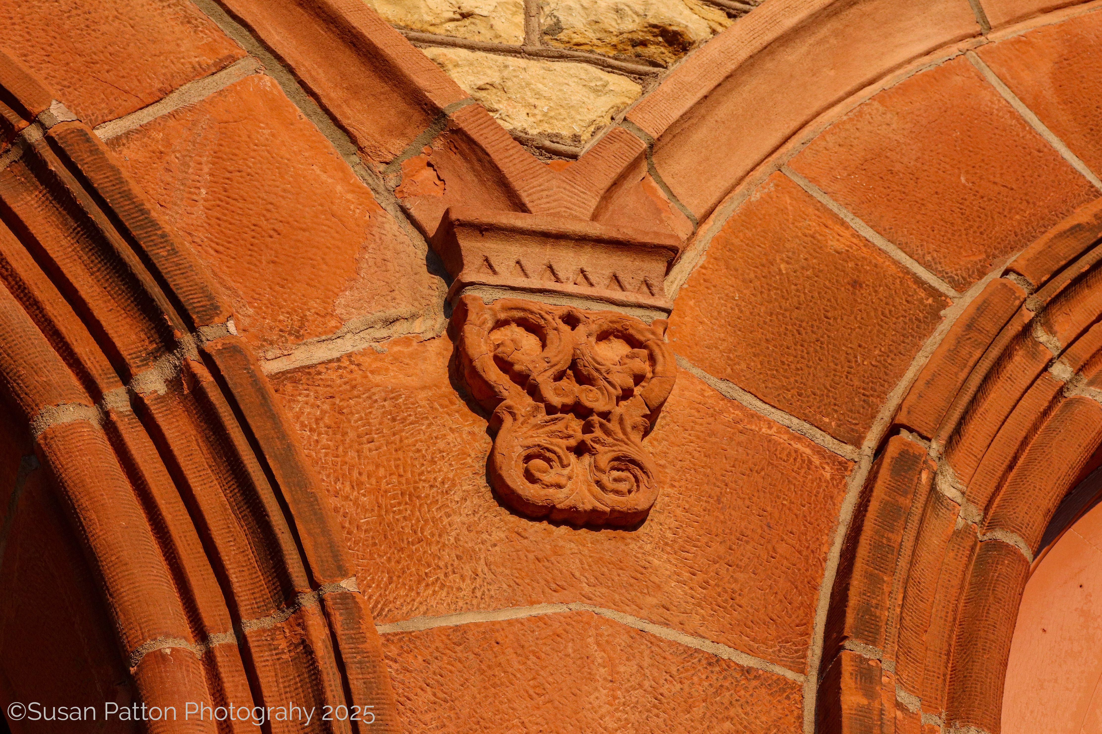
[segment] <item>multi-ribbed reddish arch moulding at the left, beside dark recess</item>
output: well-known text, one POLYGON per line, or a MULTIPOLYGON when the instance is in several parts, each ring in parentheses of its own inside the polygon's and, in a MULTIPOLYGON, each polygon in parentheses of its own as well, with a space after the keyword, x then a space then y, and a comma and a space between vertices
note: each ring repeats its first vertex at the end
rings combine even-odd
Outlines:
MULTIPOLYGON (((102 142, 2 55, 0 102, 0 381, 137 698, 181 716, 185 702, 355 702, 393 731, 370 615, 231 311, 102 142)), ((13 699, 65 694, 21 682, 13 699)))

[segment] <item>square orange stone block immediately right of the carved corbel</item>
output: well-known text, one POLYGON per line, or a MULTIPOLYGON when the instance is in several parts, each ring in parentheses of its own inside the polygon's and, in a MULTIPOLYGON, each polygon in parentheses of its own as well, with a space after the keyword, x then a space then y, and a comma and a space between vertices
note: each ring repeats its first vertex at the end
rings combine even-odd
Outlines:
POLYGON ((860 446, 949 305, 778 173, 712 240, 669 339, 705 372, 860 446))

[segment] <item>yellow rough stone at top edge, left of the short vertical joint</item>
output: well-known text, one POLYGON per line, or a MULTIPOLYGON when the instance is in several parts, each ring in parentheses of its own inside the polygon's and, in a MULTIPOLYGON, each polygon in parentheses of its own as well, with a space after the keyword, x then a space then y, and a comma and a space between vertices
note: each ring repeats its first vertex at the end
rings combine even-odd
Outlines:
POLYGON ((525 42, 521 0, 365 0, 389 23, 474 41, 525 42))

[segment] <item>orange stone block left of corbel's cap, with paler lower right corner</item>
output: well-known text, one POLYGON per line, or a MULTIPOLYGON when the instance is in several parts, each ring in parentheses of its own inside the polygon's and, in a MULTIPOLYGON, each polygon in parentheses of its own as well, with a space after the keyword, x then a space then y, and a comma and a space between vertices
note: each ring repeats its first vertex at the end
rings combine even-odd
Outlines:
POLYGON ((267 76, 112 139, 261 349, 423 308, 435 281, 398 223, 267 76))

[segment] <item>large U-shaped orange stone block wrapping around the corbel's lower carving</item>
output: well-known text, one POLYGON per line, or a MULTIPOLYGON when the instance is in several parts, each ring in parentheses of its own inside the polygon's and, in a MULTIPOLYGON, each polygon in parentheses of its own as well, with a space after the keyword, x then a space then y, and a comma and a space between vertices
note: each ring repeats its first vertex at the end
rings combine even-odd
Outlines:
POLYGON ((585 602, 802 671, 851 463, 678 375, 644 441, 660 493, 634 530, 533 522, 486 483, 486 419, 446 338, 280 373, 377 623, 585 602))

